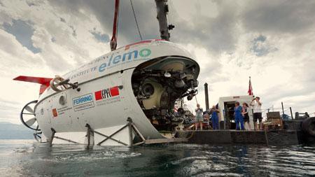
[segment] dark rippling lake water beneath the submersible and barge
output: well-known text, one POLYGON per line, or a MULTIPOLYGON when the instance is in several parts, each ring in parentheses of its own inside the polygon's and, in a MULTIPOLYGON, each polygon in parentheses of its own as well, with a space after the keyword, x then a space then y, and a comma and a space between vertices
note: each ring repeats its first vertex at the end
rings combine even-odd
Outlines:
POLYGON ((0 140, 0 176, 315 176, 305 146, 94 147, 0 140))

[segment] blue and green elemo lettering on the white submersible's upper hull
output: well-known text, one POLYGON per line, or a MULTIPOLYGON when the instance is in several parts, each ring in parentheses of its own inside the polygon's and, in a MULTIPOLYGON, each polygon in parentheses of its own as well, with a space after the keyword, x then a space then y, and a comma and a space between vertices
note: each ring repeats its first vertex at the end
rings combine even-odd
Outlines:
POLYGON ((123 55, 111 55, 108 62, 104 62, 103 64, 99 65, 99 72, 105 71, 105 69, 109 66, 113 66, 119 64, 121 62, 126 61, 134 61, 139 59, 139 57, 144 58, 151 55, 151 50, 148 48, 143 48, 141 50, 134 50, 130 52, 125 52, 123 55))

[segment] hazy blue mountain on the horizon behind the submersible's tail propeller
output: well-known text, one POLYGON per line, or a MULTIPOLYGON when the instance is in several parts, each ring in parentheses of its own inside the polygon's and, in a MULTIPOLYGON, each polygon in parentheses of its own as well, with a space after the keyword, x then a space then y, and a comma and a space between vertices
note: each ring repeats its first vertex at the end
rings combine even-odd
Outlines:
POLYGON ((34 130, 24 125, 0 122, 0 139, 34 139, 34 130))

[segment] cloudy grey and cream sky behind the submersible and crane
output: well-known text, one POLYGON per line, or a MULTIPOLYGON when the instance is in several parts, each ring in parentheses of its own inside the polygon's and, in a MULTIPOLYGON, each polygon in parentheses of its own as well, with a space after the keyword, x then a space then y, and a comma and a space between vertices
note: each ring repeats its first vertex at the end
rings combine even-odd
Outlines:
MULTIPOLYGON (((141 35, 160 38, 153 0, 132 0, 141 35)), ((0 0, 0 122, 20 123, 39 85, 110 52, 114 1, 0 0)), ((170 41, 200 64, 197 101, 253 93, 262 108, 315 112, 315 1, 169 0, 170 41)), ((120 1, 118 48, 140 41, 130 1, 120 1)), ((194 108, 196 99, 187 102, 194 108)), ((279 111, 279 110, 277 110, 279 111)), ((286 112, 288 113, 288 112, 286 112)))

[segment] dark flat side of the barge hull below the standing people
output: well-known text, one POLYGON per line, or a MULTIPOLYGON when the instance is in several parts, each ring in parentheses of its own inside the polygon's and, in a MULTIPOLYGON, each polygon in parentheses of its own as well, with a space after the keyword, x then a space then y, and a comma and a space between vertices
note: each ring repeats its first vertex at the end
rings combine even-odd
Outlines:
POLYGON ((186 143, 196 144, 265 144, 267 146, 292 146, 302 143, 315 143, 313 136, 291 129, 269 131, 254 130, 183 130, 176 133, 176 138, 187 139, 186 143))

